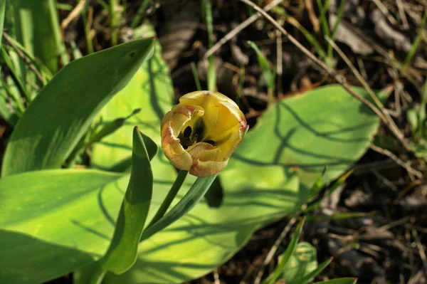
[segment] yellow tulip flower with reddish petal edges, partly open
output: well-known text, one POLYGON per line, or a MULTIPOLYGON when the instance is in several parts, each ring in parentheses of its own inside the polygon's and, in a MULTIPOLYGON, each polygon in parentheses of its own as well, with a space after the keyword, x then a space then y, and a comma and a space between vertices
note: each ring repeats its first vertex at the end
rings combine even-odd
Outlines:
POLYGON ((218 92, 183 95, 162 120, 162 148, 178 169, 196 177, 221 172, 241 144, 248 124, 230 98, 218 92))

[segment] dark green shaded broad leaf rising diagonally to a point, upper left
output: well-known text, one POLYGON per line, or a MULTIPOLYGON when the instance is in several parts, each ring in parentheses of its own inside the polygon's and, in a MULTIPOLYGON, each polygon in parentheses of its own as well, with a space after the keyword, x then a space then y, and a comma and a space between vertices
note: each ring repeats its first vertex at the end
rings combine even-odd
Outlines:
POLYGON ((131 41, 60 70, 16 125, 2 176, 61 167, 96 113, 125 87, 152 50, 152 39, 131 41))

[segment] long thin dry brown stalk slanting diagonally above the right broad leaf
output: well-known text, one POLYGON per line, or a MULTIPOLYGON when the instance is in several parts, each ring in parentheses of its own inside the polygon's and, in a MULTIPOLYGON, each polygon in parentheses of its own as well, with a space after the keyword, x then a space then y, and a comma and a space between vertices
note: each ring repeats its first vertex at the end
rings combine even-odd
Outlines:
POLYGON ((409 149, 406 141, 404 140, 404 137, 401 136, 401 132, 396 131, 396 127, 393 127, 392 125, 390 125, 389 120, 387 120, 383 112, 381 112, 376 106, 374 106, 371 102, 369 102, 369 100, 362 97, 362 95, 359 95, 358 93, 354 92, 354 90, 351 89, 351 86, 349 85, 349 83, 347 83, 346 78, 337 74, 337 72, 335 72, 334 69, 330 68, 328 65, 326 65, 326 63, 324 63, 319 58, 317 58, 313 53, 311 53, 307 48, 305 48, 305 46, 302 46, 302 44, 299 41, 297 41, 293 36, 291 36, 288 33, 288 31, 286 31, 282 26, 280 26, 280 24, 277 21, 275 21, 275 19, 273 19, 269 14, 263 11, 263 9, 261 9, 258 5, 254 4, 249 0, 240 0, 240 1, 242 1, 243 3, 249 6, 252 6, 253 9, 260 12, 260 14, 262 14, 266 19, 268 19, 268 21, 273 23, 273 25, 276 28, 278 28, 278 30, 281 31, 283 35, 285 35, 291 43, 293 43, 298 49, 300 49, 302 53, 304 53, 308 58, 310 58, 315 64, 319 65, 320 68, 325 70, 329 75, 331 75, 337 81, 337 83, 342 85, 342 87, 344 87, 344 89, 347 90, 347 92, 349 92, 352 96, 354 96, 354 98, 357 98, 358 100, 363 102, 364 105, 367 105, 367 107, 369 107, 376 115, 378 115, 381 121, 384 122, 384 124, 387 127, 389 127, 391 132, 393 132, 394 136, 396 136, 399 142, 401 142, 401 144, 404 146, 406 151, 411 152, 411 149, 409 149))

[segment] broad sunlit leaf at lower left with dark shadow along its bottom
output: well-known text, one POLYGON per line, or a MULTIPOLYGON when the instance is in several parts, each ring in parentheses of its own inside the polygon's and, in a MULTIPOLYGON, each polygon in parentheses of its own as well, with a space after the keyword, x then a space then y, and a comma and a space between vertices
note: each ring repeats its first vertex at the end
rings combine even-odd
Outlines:
POLYGON ((126 183, 120 174, 75 169, 1 178, 0 283, 43 283, 99 258, 126 183))

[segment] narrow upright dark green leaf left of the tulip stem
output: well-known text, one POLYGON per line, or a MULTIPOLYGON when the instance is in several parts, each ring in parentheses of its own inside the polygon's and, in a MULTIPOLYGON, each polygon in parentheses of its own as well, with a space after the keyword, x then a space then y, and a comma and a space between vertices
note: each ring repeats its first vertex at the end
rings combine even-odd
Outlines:
POLYGON ((153 172, 149 164, 149 154, 138 127, 135 127, 129 185, 120 207, 110 247, 100 261, 105 270, 120 274, 135 263, 139 239, 152 199, 152 190, 153 172))

